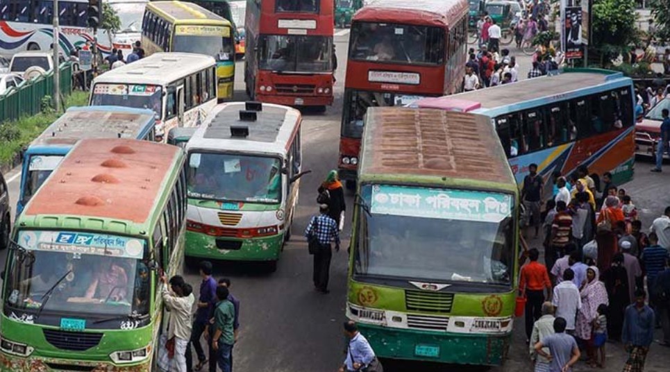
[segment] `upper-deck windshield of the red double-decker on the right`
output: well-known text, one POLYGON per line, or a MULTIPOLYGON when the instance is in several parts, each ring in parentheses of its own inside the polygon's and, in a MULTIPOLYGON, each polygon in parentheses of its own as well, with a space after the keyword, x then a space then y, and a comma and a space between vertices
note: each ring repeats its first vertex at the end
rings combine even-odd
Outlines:
POLYGON ((444 33, 434 26, 357 22, 351 27, 349 58, 439 65, 444 62, 444 33))

